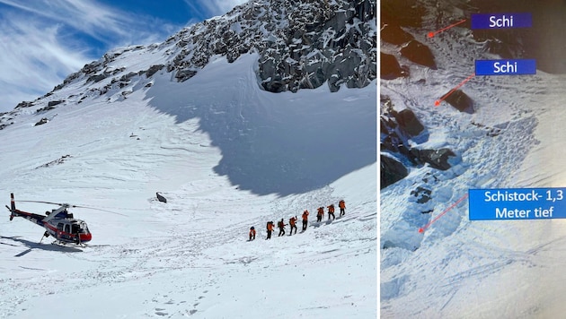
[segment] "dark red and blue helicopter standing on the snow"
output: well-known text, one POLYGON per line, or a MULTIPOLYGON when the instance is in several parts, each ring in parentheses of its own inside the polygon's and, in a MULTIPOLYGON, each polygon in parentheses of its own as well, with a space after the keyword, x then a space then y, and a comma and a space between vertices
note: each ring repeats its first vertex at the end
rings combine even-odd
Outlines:
MULTIPOLYGON (((93 234, 91 234, 88 230, 84 220, 75 219, 73 214, 67 211, 67 208, 81 206, 70 205, 68 203, 19 201, 28 203, 49 203, 60 206, 55 210, 46 211, 45 215, 40 215, 16 209, 13 193, 10 194, 10 197, 10 207, 6 205, 6 208, 10 211, 10 220, 13 220, 14 217, 22 217, 25 220, 30 220, 31 222, 40 225, 46 229, 45 233, 43 233, 43 237, 52 236, 56 239, 53 244, 75 244, 78 246, 85 246, 85 243, 93 239, 93 234)), ((41 240, 43 240, 43 237, 41 237, 41 240)))

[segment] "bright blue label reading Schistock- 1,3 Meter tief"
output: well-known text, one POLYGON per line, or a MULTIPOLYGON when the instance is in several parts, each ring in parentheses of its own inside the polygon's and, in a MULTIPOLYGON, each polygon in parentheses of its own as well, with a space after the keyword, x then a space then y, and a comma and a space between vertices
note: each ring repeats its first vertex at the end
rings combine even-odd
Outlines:
POLYGON ((470 220, 566 218, 566 188, 470 189, 470 220))

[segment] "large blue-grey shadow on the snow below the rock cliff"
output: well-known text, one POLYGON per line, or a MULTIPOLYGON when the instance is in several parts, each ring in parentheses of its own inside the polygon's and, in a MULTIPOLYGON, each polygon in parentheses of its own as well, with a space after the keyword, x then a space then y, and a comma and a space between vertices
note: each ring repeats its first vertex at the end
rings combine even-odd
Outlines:
POLYGON ((254 194, 301 194, 376 162, 376 85, 330 93, 261 91, 252 56, 210 63, 186 82, 167 73, 146 91, 148 105, 199 118, 222 151, 215 172, 254 194))

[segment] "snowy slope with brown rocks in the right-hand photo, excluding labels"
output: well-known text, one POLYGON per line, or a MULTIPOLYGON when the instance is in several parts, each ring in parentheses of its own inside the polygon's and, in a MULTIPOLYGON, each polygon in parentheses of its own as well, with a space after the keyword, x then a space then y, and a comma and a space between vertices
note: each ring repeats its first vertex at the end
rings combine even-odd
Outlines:
POLYGON ((382 317, 562 317, 562 220, 470 221, 465 195, 563 186, 563 59, 553 58, 556 47, 540 48, 562 30, 566 7, 381 5, 382 317), (472 13, 515 12, 533 14, 532 30, 470 29, 472 13), (475 60, 502 57, 535 58, 540 67, 535 75, 471 77, 475 60))

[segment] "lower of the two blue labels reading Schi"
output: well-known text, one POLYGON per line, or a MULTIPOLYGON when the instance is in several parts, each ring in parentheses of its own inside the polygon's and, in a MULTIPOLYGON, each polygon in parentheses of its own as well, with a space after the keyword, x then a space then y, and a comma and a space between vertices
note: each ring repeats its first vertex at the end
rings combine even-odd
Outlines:
POLYGON ((536 74, 536 60, 476 60, 475 75, 536 74))

